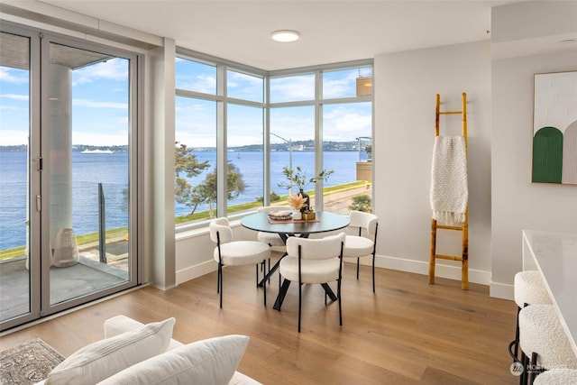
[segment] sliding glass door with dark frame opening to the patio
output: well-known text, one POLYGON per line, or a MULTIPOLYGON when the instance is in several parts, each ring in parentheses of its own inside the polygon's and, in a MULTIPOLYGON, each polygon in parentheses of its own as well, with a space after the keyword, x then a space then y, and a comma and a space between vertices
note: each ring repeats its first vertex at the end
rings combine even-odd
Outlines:
POLYGON ((0 125, 2 329, 138 283, 140 58, 5 32, 1 56, 16 45, 37 66, 0 69, 2 95, 23 101, 0 125))

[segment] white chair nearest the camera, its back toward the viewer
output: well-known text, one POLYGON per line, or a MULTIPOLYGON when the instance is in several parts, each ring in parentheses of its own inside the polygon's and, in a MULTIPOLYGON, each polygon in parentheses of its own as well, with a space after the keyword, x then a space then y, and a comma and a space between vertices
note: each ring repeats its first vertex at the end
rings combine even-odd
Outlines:
MULTIPOLYGON (((345 234, 321 239, 289 237, 288 255, 280 261, 279 271, 285 282, 298 282, 298 333, 302 314, 302 285, 320 283, 325 292, 328 282, 336 280, 336 298, 339 302, 339 325, 343 325, 341 307, 341 279, 343 276, 343 247, 345 234)), ((283 284, 283 289, 289 289, 283 284)), ((326 303, 326 294, 325 294, 326 303)))

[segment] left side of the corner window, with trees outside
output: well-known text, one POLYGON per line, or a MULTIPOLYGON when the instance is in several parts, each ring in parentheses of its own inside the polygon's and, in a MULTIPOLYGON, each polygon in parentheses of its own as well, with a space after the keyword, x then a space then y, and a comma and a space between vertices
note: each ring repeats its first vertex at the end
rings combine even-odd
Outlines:
POLYGON ((182 227, 263 200, 264 77, 228 67, 177 58, 175 215, 182 227))

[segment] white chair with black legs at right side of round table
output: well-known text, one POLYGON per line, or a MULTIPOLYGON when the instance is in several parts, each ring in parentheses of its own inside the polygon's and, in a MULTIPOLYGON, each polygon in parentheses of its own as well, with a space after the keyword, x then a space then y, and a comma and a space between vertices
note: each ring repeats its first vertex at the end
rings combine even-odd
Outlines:
POLYGON ((344 242, 344 258, 357 259, 357 280, 359 279, 359 264, 362 257, 372 255, 372 292, 375 292, 375 252, 377 251, 377 230, 379 218, 371 213, 352 210, 349 213, 349 227, 358 230, 358 234, 346 236, 344 242), (364 232, 363 232, 364 231, 364 232), (366 236, 365 236, 366 234, 366 236))

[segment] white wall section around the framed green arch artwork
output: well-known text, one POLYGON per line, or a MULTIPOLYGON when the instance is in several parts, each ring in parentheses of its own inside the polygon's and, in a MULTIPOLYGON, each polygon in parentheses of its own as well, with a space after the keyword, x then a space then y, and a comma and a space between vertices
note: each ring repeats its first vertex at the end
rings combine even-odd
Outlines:
POLYGON ((534 74, 576 66, 577 47, 493 62, 491 296, 512 296, 523 229, 577 233, 577 187, 531 183, 534 74))

